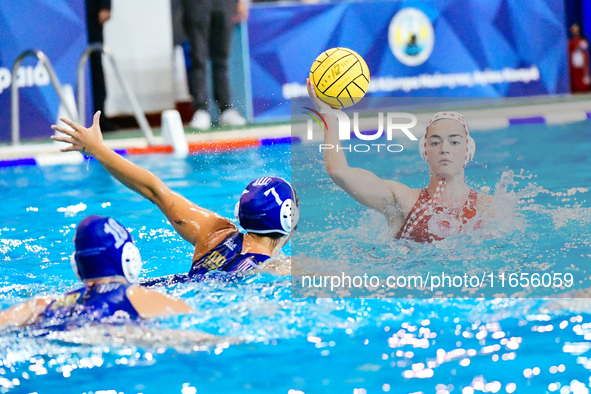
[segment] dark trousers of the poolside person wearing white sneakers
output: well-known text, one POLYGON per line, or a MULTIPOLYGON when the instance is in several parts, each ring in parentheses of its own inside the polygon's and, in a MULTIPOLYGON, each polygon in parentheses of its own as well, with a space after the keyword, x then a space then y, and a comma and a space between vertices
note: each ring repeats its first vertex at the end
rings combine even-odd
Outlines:
POLYGON ((236 0, 181 0, 183 27, 191 45, 189 91, 193 110, 207 110, 207 59, 211 60, 214 98, 220 111, 231 106, 228 57, 236 0))

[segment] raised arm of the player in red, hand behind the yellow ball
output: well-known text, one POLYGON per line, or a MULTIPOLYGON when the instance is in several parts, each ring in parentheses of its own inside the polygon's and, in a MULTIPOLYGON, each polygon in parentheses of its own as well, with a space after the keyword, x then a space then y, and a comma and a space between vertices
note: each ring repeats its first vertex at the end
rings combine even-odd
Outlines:
MULTIPOLYGON (((332 109, 316 96, 310 80, 308 80, 308 94, 320 112, 332 109)), ((328 127, 324 132, 324 143, 334 148, 324 150, 324 163, 326 172, 334 183, 357 202, 381 213, 385 213, 392 203, 398 204, 399 192, 405 192, 408 187, 398 182, 384 181, 371 171, 349 167, 347 157, 341 149, 336 117, 326 116, 326 123, 328 127)))

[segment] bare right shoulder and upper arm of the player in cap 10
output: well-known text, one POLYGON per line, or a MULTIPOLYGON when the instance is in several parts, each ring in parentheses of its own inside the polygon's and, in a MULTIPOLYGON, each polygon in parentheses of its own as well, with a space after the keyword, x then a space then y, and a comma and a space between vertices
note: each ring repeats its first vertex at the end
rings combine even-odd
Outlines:
POLYGON ((127 288, 127 298, 144 319, 193 312, 193 308, 183 300, 142 286, 127 288))

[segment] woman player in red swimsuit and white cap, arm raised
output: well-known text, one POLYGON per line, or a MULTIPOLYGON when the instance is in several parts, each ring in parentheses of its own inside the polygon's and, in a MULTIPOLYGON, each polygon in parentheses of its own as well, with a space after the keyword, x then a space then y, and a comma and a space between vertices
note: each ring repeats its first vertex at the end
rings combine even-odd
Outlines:
MULTIPOLYGON (((316 96, 309 80, 308 94, 318 110, 331 109, 316 96)), ((335 117, 327 116, 327 124, 324 142, 339 146, 335 117)), ((492 197, 470 189, 464 181, 464 168, 476 150, 464 117, 457 112, 433 115, 419 148, 429 164, 429 184, 423 189, 351 168, 342 149, 325 150, 326 172, 356 201, 383 214, 397 239, 432 242, 479 226, 469 220, 477 212, 479 218, 489 216, 486 211, 492 197)))

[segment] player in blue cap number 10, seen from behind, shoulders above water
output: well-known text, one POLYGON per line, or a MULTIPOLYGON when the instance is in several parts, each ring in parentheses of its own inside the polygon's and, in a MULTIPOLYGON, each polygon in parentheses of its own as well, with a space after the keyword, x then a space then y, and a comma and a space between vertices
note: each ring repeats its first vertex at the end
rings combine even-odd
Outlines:
POLYGON ((131 235, 116 220, 88 216, 76 228, 72 268, 84 287, 56 297, 32 298, 0 312, 1 326, 73 328, 190 313, 185 302, 134 285, 142 260, 131 235))

